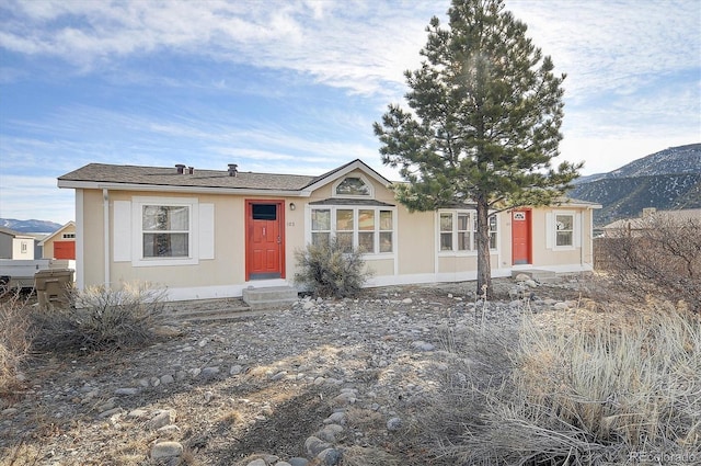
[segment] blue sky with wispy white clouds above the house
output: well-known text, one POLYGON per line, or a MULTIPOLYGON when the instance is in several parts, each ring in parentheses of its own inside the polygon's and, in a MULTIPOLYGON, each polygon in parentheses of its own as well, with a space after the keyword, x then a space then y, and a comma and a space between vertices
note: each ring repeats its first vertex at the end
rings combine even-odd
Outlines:
MULTIPOLYGON (((701 141, 701 2, 505 0, 566 72, 583 174, 701 141)), ((372 122, 402 103, 448 0, 0 0, 0 217, 73 219, 85 163, 386 177, 372 122)))

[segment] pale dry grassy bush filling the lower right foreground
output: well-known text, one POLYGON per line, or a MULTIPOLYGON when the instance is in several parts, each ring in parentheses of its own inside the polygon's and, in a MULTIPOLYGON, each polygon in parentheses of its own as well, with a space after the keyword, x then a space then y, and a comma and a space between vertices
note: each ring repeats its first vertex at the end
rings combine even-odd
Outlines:
POLYGON ((543 331, 527 320, 513 383, 450 453, 468 464, 701 458, 701 319, 654 302, 620 326, 543 331))

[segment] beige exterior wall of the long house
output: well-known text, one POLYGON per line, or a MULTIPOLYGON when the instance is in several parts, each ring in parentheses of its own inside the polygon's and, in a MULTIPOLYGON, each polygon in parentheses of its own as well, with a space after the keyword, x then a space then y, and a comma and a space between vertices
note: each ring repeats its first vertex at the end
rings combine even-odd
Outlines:
MULTIPOLYGON (((350 172, 346 175, 361 174, 350 172)), ((440 253, 437 247, 437 214, 410 213, 399 204, 393 193, 368 175, 363 178, 372 184, 375 200, 391 204, 397 213, 394 217, 394 254, 377 254, 368 259, 367 266, 375 272, 375 279, 394 277, 398 283, 411 283, 412 280, 466 280, 466 273, 476 273, 476 252, 461 254, 440 253), (404 279, 405 280, 404 280, 404 279)), ((336 180, 338 181, 338 180, 336 180)), ((285 202, 285 270, 286 279, 292 282, 296 271, 296 251, 304 247, 306 221, 309 221, 309 203, 332 196, 334 182, 321 186, 309 197, 280 196, 238 196, 230 194, 183 194, 156 193, 152 191, 110 191, 110 257, 114 251, 114 203, 143 197, 196 197, 199 204, 211 204, 215 209, 214 238, 215 258, 200 259, 192 265, 134 266, 128 262, 111 261, 110 281, 115 287, 125 282, 149 282, 168 285, 169 288, 198 287, 245 287, 245 201, 285 202), (290 204, 295 204, 291 209, 290 204)), ((84 285, 101 285, 105 281, 104 266, 104 219, 103 193, 100 190, 83 190, 82 221, 83 237, 83 279, 84 285)), ((536 268, 567 266, 591 263, 591 211, 571 206, 566 211, 582 213, 582 248, 553 250, 547 248, 545 215, 552 208, 536 208, 532 213, 532 259, 536 268)), ((492 254, 492 270, 502 273, 512 268, 510 214, 498 216, 498 251, 492 254)), ((255 282, 251 282, 254 284, 255 282)), ((378 283, 383 283, 381 280, 378 283)), ((384 282, 388 283, 388 282, 384 282)))

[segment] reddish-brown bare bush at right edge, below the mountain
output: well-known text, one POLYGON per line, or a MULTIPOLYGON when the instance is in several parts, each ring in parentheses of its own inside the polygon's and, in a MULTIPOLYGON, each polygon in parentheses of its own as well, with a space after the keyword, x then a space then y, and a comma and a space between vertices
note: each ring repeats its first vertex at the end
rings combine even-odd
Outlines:
POLYGON ((701 312, 701 220, 651 215, 642 228, 601 242, 607 268, 628 292, 682 299, 701 312))

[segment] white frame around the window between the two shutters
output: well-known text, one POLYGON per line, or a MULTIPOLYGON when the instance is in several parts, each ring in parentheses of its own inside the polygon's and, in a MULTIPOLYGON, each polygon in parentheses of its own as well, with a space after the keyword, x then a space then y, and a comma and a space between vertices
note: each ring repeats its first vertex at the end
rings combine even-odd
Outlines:
POLYGON ((194 197, 140 197, 133 198, 131 225, 134 225, 131 243, 131 264, 134 266, 170 266, 170 265, 194 265, 199 263, 198 258, 198 201, 194 197), (165 207, 187 207, 187 257, 177 258, 145 258, 143 257, 143 207, 147 205, 158 205, 165 207))

